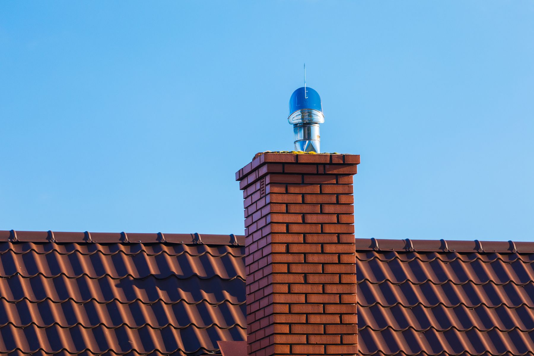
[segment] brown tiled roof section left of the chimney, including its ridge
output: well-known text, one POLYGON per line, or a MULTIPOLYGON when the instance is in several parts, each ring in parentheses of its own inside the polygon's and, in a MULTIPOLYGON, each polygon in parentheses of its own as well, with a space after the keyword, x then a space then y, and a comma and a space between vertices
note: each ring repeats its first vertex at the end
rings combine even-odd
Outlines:
POLYGON ((242 239, 1 231, 0 353, 217 354, 246 338, 242 239))

